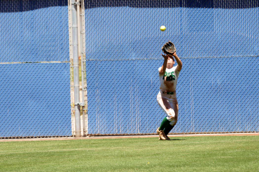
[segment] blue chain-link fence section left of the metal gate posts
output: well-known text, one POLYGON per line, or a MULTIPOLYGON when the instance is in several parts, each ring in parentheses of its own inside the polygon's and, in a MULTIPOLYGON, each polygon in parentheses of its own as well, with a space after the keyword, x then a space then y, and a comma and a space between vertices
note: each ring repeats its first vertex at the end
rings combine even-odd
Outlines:
POLYGON ((0 138, 71 136, 67 1, 0 1, 0 138))

